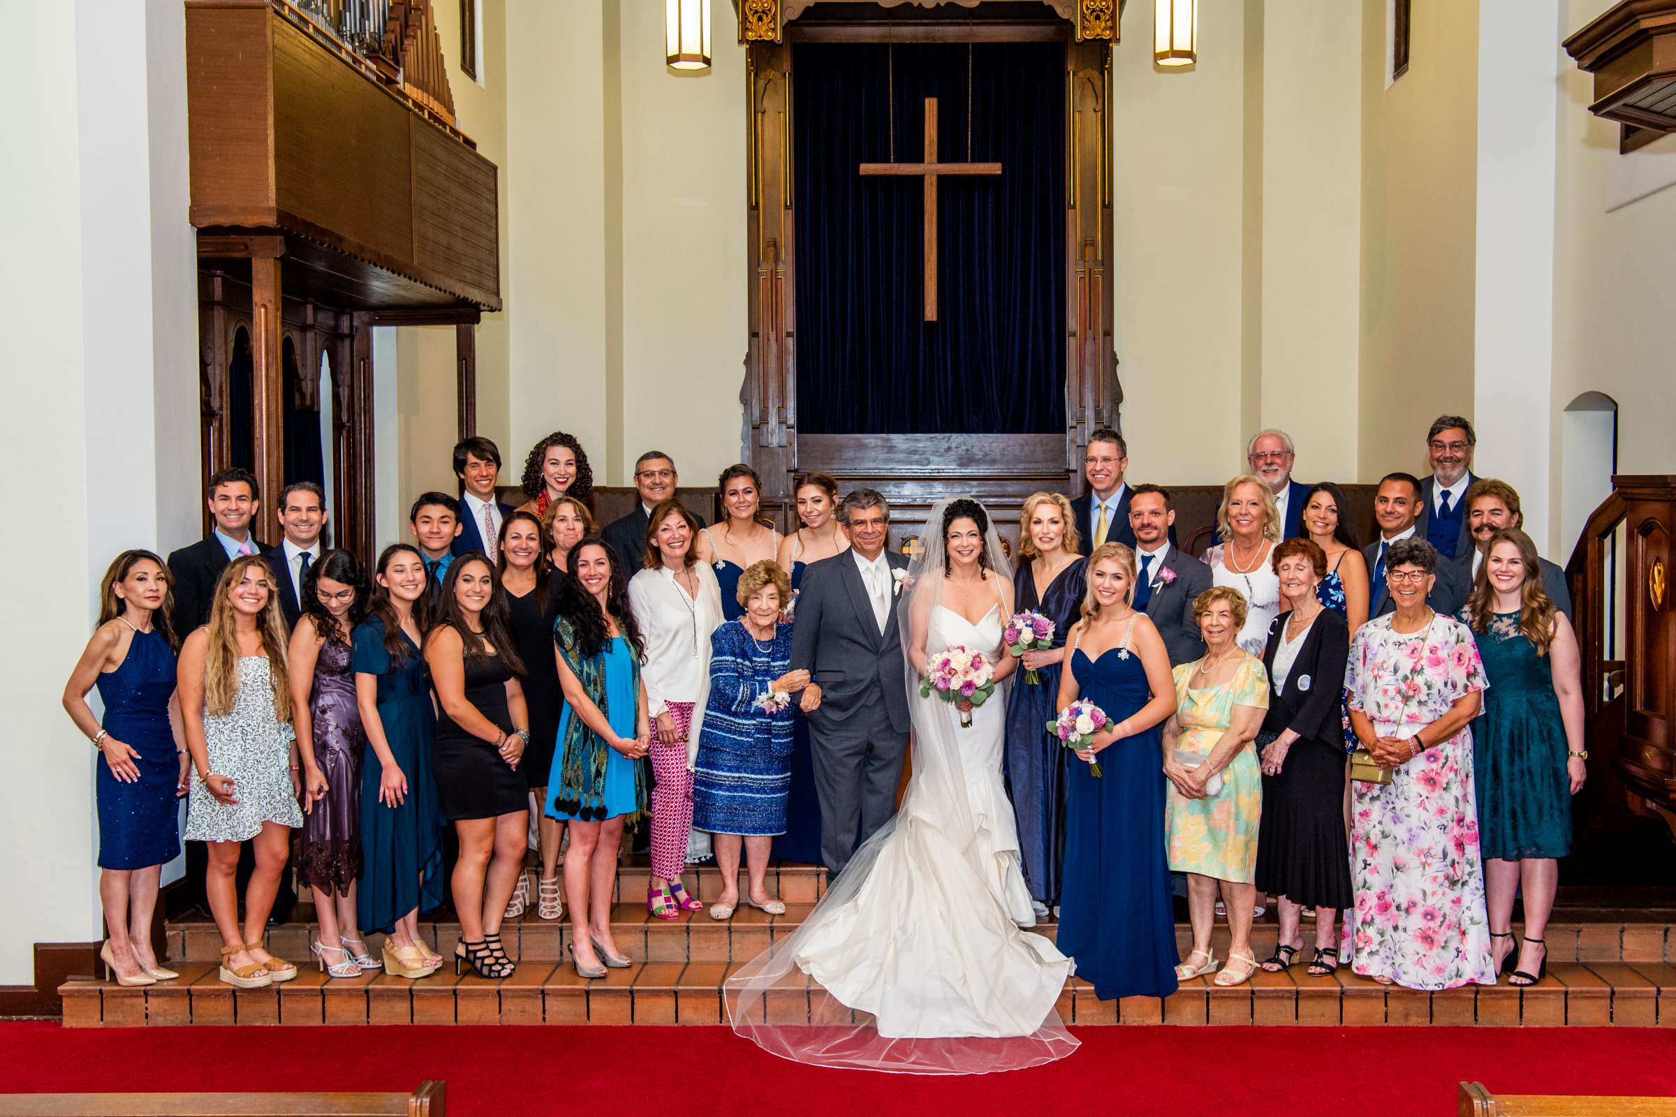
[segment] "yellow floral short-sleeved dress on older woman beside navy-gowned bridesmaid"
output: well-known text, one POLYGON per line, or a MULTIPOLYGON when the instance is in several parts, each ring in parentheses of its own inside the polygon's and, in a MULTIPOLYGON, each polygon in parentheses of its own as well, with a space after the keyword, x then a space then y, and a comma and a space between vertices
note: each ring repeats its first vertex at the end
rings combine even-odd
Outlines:
MULTIPOLYGON (((1234 678, 1220 687, 1193 690, 1193 663, 1175 675, 1175 708, 1182 737, 1175 747, 1210 754, 1229 728, 1234 707, 1269 708, 1269 673, 1262 661, 1245 656, 1234 678)), ((1262 774, 1257 750, 1245 745, 1222 770, 1222 790, 1203 799, 1183 799, 1168 784, 1165 832, 1170 836, 1170 871, 1198 872, 1235 884, 1250 884, 1257 869, 1257 824, 1262 821, 1262 774)))

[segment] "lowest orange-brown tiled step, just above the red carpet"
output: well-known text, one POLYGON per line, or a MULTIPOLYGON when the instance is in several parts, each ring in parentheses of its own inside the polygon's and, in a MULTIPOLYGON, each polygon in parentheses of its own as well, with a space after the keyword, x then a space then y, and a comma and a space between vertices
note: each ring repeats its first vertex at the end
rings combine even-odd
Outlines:
MULTIPOLYGON (((266 990, 231 990, 213 963, 184 963, 179 981, 124 990, 104 981, 60 986, 67 1027, 139 1025, 318 1025, 318 1023, 727 1023, 722 978, 729 961, 635 963, 600 981, 577 978, 568 965, 525 961, 504 981, 453 970, 406 981, 382 973, 328 980, 303 970, 266 990)), ((820 990, 815 988, 815 993, 820 990)), ((768 1011, 778 1022, 810 1020, 811 990, 778 990, 768 1011)), ((1073 978, 1059 1015, 1074 1025, 1485 1025, 1485 1027, 1673 1027, 1676 966, 1666 963, 1554 963, 1530 988, 1468 986, 1416 993, 1341 973, 1311 978, 1302 968, 1259 973, 1237 988, 1207 978, 1173 996, 1103 1001, 1073 978)), ((816 1022, 818 1023, 818 1022, 816 1022)))

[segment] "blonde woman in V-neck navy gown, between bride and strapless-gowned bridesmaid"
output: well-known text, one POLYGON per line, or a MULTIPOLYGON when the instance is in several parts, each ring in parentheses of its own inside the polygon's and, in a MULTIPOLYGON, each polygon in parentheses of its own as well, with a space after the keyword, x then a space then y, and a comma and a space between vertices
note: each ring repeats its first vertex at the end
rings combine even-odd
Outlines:
POLYGON ((1059 670, 1066 636, 1078 618, 1084 591, 1084 559, 1071 501, 1058 492, 1036 492, 1019 512, 1019 568, 1012 573, 1017 611, 1041 613, 1053 621, 1053 646, 1026 651, 1021 667, 1039 683, 1021 683, 1007 702, 1004 759, 1012 809, 1019 821, 1024 883, 1036 916, 1059 903, 1064 856, 1064 745, 1048 734, 1059 713, 1059 670))

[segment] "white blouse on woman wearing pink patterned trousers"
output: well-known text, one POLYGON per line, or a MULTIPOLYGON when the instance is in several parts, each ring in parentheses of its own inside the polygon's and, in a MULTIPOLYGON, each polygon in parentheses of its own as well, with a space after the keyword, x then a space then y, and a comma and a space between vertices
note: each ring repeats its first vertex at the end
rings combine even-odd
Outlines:
POLYGON ((642 569, 628 579, 628 606, 645 641, 645 702, 650 717, 669 702, 691 702, 689 742, 697 742, 704 702, 711 692, 711 633, 722 623, 722 591, 707 563, 694 563, 699 579, 692 598, 667 566, 642 569))

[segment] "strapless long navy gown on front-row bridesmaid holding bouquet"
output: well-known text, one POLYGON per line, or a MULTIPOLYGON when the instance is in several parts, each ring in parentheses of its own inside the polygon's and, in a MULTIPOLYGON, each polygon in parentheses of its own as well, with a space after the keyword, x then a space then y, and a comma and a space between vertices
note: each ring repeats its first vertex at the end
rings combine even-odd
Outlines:
MULTIPOLYGON (((1071 667, 1081 698, 1113 722, 1151 697, 1138 655, 1110 648, 1071 667)), ((1058 946, 1101 1000, 1175 993, 1175 913, 1165 856, 1165 777, 1158 727, 1099 754, 1101 779, 1074 754, 1066 762, 1064 898, 1058 946)))

